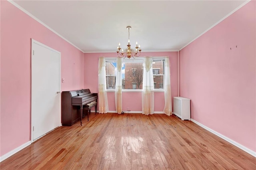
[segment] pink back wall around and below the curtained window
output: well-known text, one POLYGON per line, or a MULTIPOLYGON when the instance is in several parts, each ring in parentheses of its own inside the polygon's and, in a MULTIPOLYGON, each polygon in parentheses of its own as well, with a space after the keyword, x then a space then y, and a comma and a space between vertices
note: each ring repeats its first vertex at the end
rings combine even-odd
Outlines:
MULTIPOLYGON (((114 50, 114 49, 113 49, 114 50)), ((171 93, 178 95, 178 53, 177 52, 143 52, 142 56, 170 57, 171 93)), ((99 57, 116 57, 116 53, 84 53, 84 88, 98 93, 98 61, 99 57)), ((156 92, 155 111, 164 110, 164 92, 156 92)), ((142 111, 142 94, 140 92, 123 92, 122 110, 142 111)), ((109 111, 116 111, 114 93, 108 92, 109 111)))

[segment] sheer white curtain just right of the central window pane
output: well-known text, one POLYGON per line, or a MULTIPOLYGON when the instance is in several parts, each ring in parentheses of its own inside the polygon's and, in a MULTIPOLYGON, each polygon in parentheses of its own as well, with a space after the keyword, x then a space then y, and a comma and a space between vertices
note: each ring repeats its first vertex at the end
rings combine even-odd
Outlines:
POLYGON ((145 57, 143 63, 143 86, 142 86, 142 114, 154 113, 154 79, 152 69, 152 57, 145 57))

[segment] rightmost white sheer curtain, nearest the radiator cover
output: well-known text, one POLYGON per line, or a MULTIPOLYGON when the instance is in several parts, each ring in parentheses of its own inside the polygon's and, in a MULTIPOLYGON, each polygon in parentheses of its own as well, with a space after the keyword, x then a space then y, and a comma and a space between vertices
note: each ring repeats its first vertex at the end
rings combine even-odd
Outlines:
POLYGON ((172 115, 170 63, 169 57, 164 58, 164 113, 172 115))

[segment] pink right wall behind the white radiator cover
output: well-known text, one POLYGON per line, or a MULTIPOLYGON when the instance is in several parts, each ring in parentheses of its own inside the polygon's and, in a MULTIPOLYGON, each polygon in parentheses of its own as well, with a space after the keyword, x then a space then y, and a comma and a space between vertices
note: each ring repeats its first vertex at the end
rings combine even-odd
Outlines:
POLYGON ((255 8, 249 2, 180 51, 180 96, 191 99, 191 118, 253 151, 255 8))

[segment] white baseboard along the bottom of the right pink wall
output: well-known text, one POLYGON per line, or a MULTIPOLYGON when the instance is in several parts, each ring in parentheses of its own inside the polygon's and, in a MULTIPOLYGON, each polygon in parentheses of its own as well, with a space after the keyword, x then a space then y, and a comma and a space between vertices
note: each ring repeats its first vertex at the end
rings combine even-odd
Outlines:
POLYGON ((238 148, 244 150, 244 151, 247 152, 248 154, 250 154, 250 155, 256 157, 256 152, 254 152, 253 150, 250 150, 249 148, 246 148, 246 147, 243 146, 242 144, 240 144, 240 143, 238 143, 238 142, 236 142, 236 141, 234 141, 234 140, 232 140, 232 139, 230 139, 230 138, 224 136, 223 134, 220 134, 219 132, 216 132, 215 130, 212 130, 211 128, 208 128, 208 127, 204 126, 203 124, 201 124, 201 123, 195 121, 194 119, 191 119, 191 121, 194 122, 194 123, 196 123, 196 124, 199 125, 200 127, 204 128, 204 129, 206 129, 206 130, 208 130, 209 132, 212 132, 213 134, 219 136, 220 138, 226 140, 227 142, 230 142, 231 144, 235 145, 236 147, 238 147, 238 148))

